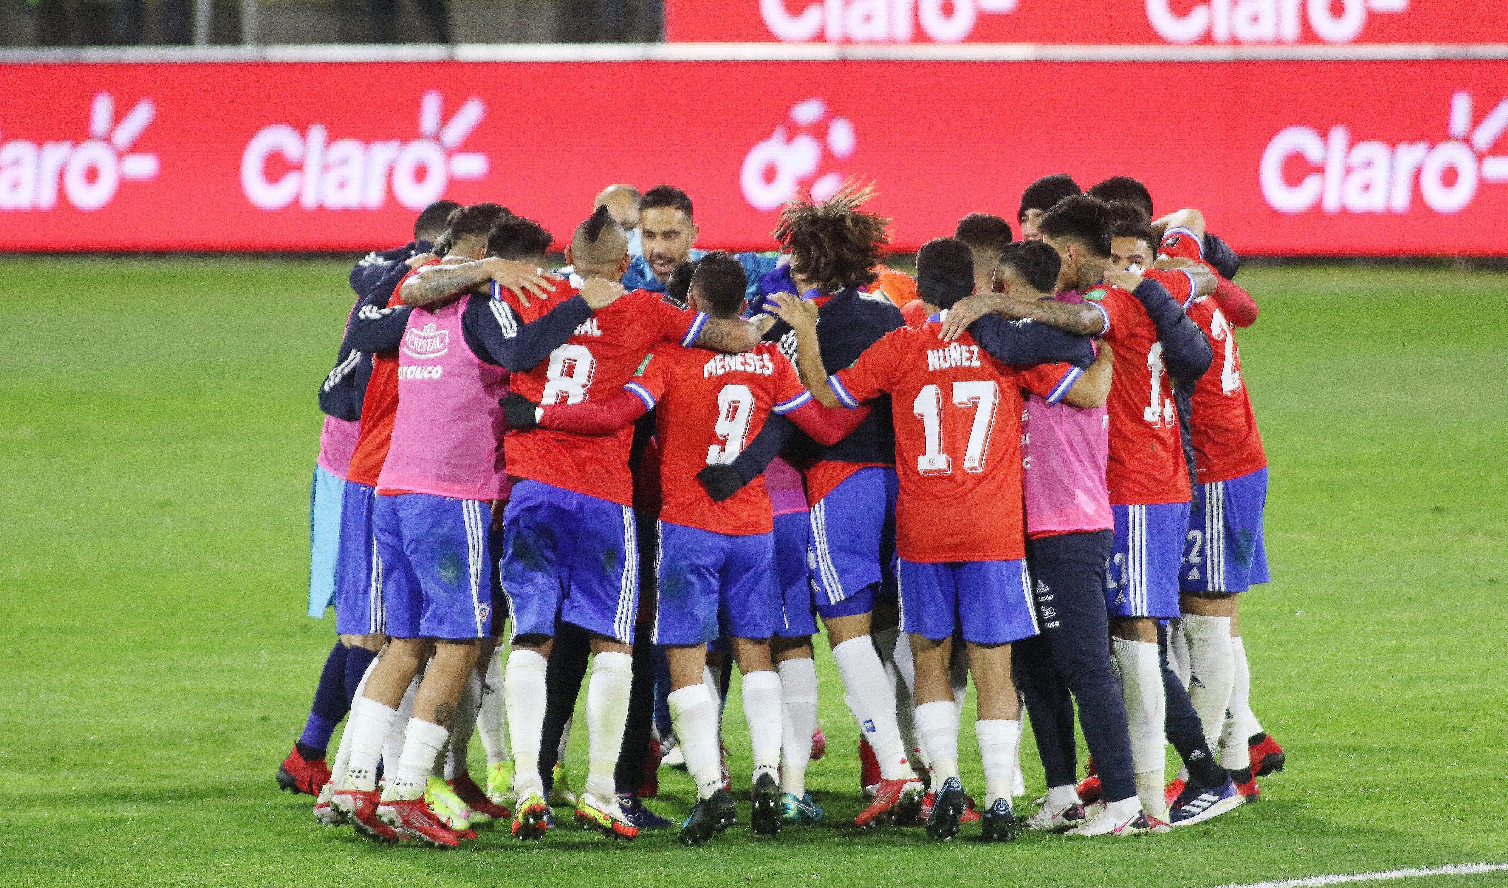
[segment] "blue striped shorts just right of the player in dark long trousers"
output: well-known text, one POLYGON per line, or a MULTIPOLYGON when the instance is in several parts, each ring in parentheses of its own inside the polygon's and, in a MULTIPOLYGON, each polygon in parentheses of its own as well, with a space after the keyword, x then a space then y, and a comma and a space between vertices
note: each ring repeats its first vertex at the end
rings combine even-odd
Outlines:
POLYGON ((1116 541, 1105 570, 1111 618, 1179 617, 1178 562, 1188 531, 1188 504, 1111 505, 1116 541))

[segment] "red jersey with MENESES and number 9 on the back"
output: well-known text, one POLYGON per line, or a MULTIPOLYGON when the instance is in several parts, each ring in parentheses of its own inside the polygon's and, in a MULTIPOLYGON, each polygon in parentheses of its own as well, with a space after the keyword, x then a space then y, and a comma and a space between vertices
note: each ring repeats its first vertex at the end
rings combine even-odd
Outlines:
POLYGON ((624 387, 659 406, 661 520, 730 537, 774 531, 763 475, 712 502, 697 472, 737 458, 771 412, 811 400, 780 345, 742 354, 656 345, 624 387))

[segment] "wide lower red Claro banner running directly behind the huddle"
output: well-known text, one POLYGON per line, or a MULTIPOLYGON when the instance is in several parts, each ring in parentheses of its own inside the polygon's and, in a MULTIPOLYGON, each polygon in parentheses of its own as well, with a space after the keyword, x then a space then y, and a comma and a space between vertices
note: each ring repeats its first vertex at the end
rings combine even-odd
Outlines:
POLYGON ((612 182, 676 184, 703 247, 765 249, 787 198, 847 176, 914 250, 1066 172, 1134 175, 1250 255, 1508 253, 1505 60, 3 71, 3 250, 368 250, 439 198, 567 238, 612 182))

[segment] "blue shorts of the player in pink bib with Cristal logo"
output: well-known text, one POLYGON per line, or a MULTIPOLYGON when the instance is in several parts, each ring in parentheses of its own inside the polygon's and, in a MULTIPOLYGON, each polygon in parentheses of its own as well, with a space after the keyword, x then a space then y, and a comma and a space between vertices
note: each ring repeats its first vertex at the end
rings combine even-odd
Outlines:
POLYGON ((492 510, 480 499, 433 493, 379 496, 372 535, 382 552, 382 597, 392 638, 492 636, 492 510))

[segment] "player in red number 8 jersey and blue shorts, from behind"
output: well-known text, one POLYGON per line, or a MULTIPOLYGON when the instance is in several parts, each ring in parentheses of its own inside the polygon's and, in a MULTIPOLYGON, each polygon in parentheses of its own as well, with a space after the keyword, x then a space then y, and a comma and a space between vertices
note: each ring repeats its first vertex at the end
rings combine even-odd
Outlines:
MULTIPOLYGON (((627 237, 599 207, 576 228, 566 258, 585 279, 584 288, 615 286, 629 261, 627 237)), ((495 292, 525 323, 573 294, 566 282, 555 282, 553 292, 543 299, 495 292)), ((448 294, 431 294, 442 295, 448 294)), ((511 386, 544 406, 579 404, 621 389, 656 342, 742 351, 752 348, 760 333, 757 324, 685 312, 656 294, 635 291, 581 324, 549 360, 513 374, 511 386)), ((504 511, 507 552, 501 565, 504 596, 514 615, 504 684, 519 799, 513 829, 520 838, 544 832, 538 742, 556 618, 593 633, 588 778, 578 799, 578 820, 608 835, 636 835, 618 810, 612 778, 627 716, 638 606, 630 443, 627 428, 608 439, 547 428, 514 430, 504 439, 508 472, 520 478, 504 511)))

